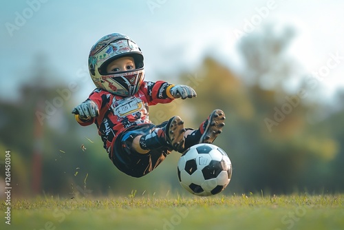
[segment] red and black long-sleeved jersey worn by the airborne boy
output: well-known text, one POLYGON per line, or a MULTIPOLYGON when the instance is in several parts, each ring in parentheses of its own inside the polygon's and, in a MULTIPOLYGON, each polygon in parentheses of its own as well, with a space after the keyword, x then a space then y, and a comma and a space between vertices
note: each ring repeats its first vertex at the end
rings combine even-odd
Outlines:
POLYGON ((76 115, 76 121, 86 126, 95 123, 98 134, 103 140, 104 148, 109 151, 111 143, 127 128, 133 125, 151 123, 149 121, 149 105, 158 103, 170 103, 173 101, 170 89, 174 85, 164 81, 144 81, 140 90, 133 96, 117 96, 106 90, 94 90, 87 100, 92 100, 98 105, 99 116, 89 121, 80 120, 76 115))

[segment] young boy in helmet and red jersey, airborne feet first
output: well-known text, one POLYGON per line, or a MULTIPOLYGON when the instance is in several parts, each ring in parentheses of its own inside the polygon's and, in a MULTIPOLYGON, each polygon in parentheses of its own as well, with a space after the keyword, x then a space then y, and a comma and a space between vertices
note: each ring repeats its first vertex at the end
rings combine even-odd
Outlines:
POLYGON ((144 81, 143 55, 128 36, 109 34, 89 53, 89 73, 96 85, 72 113, 80 125, 95 123, 109 158, 120 171, 141 177, 172 150, 184 152, 197 143, 213 143, 224 126, 224 112, 215 109, 199 129, 184 128, 179 116, 154 125, 149 105, 193 98, 187 85, 144 81))

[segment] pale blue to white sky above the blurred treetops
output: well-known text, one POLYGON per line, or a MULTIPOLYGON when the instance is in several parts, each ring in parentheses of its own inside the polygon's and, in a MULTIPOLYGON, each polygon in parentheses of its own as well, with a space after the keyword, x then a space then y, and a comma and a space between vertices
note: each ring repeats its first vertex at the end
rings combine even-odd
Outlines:
MULTIPOLYGON (((257 8, 271 3, 274 8, 257 27, 268 21, 294 24, 299 33, 288 54, 305 72, 319 70, 331 54, 344 56, 344 2, 339 0, 41 1, 2 4, 1 97, 15 97, 17 85, 30 81, 27 72, 37 52, 47 54, 48 63, 62 81, 78 81, 76 73, 87 65, 92 45, 112 32, 127 34, 142 48, 149 80, 156 80, 159 74, 195 71, 205 54, 241 72, 234 31, 243 30, 246 19, 250 21, 258 14, 257 8), (30 14, 32 6, 36 9, 30 14), (11 36, 6 25, 15 25, 17 15, 24 13, 28 19, 11 36)), ((321 82, 325 94, 344 86, 343 70, 344 59, 321 82)), ((85 97, 94 85, 91 79, 82 84, 80 94, 85 97)))

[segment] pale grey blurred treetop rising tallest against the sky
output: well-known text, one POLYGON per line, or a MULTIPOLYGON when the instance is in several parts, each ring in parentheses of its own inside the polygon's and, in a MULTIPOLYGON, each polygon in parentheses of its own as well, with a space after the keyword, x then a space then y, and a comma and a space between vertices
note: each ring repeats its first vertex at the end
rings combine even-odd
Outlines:
POLYGON ((246 64, 246 84, 264 90, 284 91, 283 82, 298 74, 297 63, 286 54, 295 33, 289 25, 283 27, 271 23, 241 39, 238 47, 246 64))

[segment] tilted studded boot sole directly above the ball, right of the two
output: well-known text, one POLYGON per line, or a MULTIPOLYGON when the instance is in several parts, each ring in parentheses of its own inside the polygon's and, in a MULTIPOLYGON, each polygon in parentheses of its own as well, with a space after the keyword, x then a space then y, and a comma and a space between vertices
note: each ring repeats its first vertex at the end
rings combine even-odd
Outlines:
POLYGON ((204 134, 200 138, 200 143, 211 144, 222 133, 224 127, 224 112, 221 109, 215 109, 209 118, 208 125, 204 129, 204 134))

